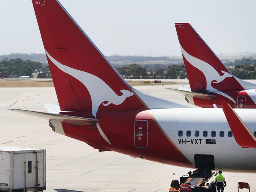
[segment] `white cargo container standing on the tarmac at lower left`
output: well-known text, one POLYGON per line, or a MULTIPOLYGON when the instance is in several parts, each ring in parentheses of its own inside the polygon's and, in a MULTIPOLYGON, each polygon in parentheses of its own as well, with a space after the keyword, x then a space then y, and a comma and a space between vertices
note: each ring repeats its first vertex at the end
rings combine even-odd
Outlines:
POLYGON ((46 189, 46 150, 0 146, 0 191, 46 189))

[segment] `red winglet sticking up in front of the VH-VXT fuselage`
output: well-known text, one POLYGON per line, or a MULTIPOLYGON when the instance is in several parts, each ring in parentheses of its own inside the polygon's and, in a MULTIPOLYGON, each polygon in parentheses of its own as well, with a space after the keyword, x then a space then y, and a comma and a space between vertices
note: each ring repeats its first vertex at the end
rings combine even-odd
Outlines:
POLYGON ((237 144, 243 148, 256 148, 256 138, 234 109, 226 102, 221 105, 237 144))

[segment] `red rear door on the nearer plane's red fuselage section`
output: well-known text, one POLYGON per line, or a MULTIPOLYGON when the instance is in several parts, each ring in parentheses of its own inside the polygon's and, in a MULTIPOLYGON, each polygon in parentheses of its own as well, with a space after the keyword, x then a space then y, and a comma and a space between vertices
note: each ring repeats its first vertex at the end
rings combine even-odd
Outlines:
POLYGON ((134 145, 137 148, 148 146, 148 121, 137 120, 134 123, 134 145))

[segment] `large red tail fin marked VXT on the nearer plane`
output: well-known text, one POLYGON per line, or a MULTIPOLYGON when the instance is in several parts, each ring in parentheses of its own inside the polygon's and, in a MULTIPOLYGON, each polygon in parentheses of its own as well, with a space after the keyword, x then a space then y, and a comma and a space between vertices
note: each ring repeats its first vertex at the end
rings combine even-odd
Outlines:
POLYGON ((58 0, 32 3, 61 111, 144 107, 58 0))

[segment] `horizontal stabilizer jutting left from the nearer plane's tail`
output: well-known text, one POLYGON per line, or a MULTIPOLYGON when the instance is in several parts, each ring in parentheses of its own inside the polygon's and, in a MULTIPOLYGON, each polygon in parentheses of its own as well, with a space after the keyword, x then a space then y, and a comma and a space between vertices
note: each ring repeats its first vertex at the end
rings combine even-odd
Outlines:
POLYGON ((91 125, 91 124, 97 124, 98 122, 100 122, 99 119, 69 116, 69 115, 63 115, 63 114, 44 113, 44 112, 29 111, 29 110, 22 110, 22 109, 9 109, 9 110, 16 111, 23 114, 28 114, 28 115, 39 117, 46 120, 51 120, 54 122, 65 122, 67 124, 74 124, 74 125, 91 125))

